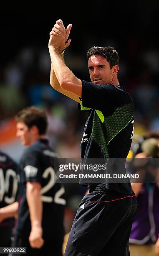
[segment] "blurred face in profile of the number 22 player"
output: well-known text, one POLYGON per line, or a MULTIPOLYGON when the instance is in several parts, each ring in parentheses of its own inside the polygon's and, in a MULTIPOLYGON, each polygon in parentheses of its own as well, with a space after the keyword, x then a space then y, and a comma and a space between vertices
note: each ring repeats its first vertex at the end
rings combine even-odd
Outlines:
POLYGON ((16 136, 20 138, 21 143, 24 146, 30 146, 33 139, 32 130, 23 122, 17 123, 17 133, 16 136))

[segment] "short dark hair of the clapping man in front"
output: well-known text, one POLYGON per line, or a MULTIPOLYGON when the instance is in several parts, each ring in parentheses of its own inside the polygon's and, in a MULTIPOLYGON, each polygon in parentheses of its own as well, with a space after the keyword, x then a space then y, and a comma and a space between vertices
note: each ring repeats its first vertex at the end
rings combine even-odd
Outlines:
POLYGON ((87 52, 87 58, 89 59, 93 55, 100 55, 103 56, 110 64, 110 68, 112 69, 113 66, 119 65, 119 55, 114 47, 106 46, 106 47, 99 47, 93 46, 87 52))

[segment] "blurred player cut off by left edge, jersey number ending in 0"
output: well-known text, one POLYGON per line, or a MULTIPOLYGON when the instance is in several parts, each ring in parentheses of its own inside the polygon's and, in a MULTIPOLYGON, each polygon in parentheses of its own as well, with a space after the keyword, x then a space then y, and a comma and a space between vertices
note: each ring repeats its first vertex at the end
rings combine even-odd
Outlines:
POLYGON ((18 202, 15 202, 17 189, 18 166, 13 159, 0 151, 0 247, 11 246, 11 235, 15 225, 12 211, 18 206, 18 202), (8 207, 10 204, 11 209, 8 207), (3 207, 6 207, 5 220, 3 207))

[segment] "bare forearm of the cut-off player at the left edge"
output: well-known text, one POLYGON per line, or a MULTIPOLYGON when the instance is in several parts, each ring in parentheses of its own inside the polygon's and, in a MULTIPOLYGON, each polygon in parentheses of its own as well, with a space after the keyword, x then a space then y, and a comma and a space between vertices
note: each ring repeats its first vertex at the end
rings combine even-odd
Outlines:
POLYGON ((18 202, 14 202, 13 204, 10 204, 8 206, 5 206, 3 208, 0 208, 0 222, 7 218, 18 216, 18 202))

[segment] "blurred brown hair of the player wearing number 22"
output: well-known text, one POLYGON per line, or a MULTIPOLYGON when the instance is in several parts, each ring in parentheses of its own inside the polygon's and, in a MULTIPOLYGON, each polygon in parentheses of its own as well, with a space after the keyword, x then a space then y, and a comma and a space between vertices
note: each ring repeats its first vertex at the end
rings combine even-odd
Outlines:
POLYGON ((30 129, 33 125, 38 128, 39 135, 46 133, 46 128, 48 125, 47 116, 44 110, 40 110, 34 106, 24 108, 15 116, 17 122, 25 123, 30 129))

